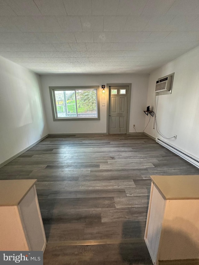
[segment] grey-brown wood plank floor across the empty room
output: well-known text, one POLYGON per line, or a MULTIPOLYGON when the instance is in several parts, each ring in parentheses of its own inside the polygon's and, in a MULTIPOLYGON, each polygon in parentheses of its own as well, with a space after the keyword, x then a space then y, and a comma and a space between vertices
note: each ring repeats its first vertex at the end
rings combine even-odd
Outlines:
POLYGON ((0 169, 0 179, 38 180, 44 265, 151 265, 150 175, 199 169, 146 135, 49 136, 0 169))

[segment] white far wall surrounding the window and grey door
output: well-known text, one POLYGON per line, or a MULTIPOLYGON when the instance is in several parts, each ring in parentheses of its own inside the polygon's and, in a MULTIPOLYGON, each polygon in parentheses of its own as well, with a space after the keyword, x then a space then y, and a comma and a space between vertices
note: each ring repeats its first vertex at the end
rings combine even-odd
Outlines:
POLYGON ((130 132, 144 129, 147 88, 149 75, 42 75, 42 91, 44 106, 49 127, 49 134, 75 133, 106 133, 106 103, 107 93, 102 95, 101 85, 108 83, 132 83, 130 132), (100 87, 100 121, 53 121, 50 103, 49 86, 86 86, 99 85, 100 87))

